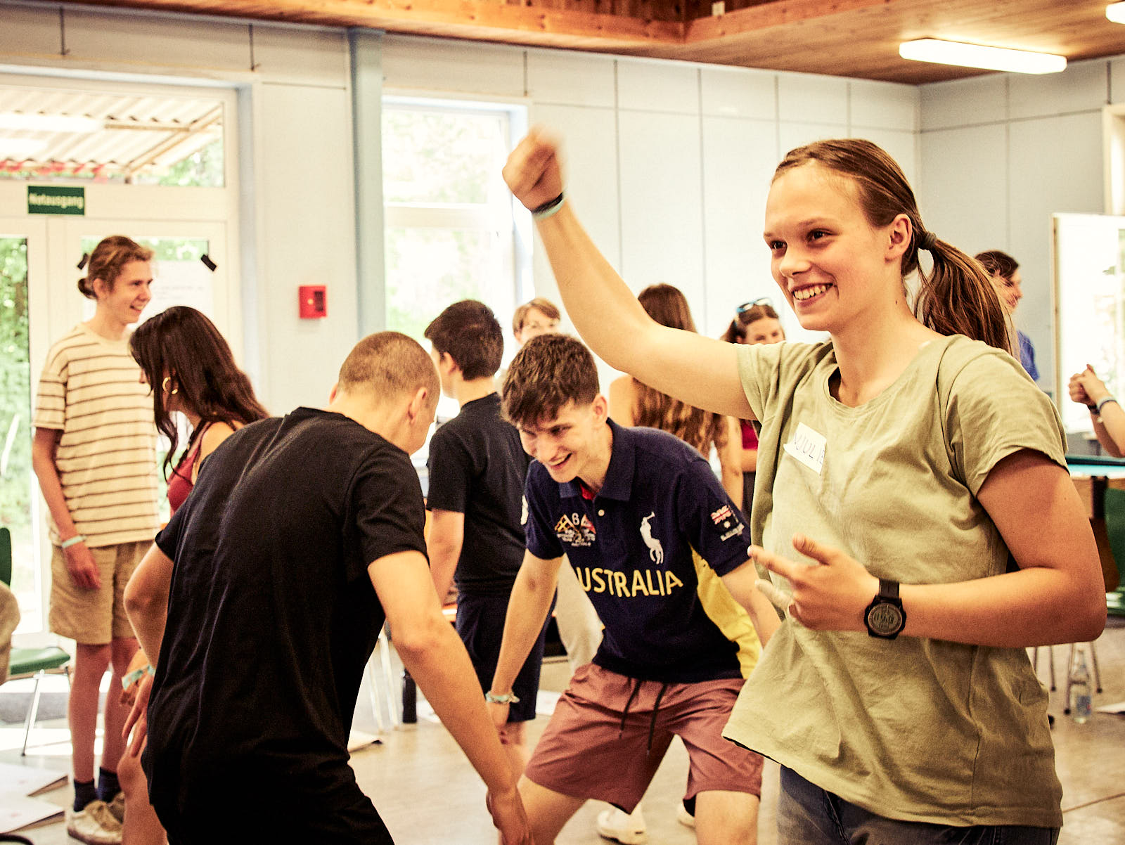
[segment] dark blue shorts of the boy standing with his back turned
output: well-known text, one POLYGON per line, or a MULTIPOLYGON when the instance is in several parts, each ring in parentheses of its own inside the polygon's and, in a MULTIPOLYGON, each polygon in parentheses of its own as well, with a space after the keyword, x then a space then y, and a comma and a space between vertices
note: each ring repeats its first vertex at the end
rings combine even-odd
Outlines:
MULTIPOLYGON (((472 668, 477 671, 480 692, 484 694, 492 686, 496 673, 496 660, 500 658, 500 644, 504 639, 504 617, 507 614, 506 595, 466 595, 457 596, 457 633, 461 637, 472 668)), ((554 610, 555 602, 551 602, 554 610)), ((539 638, 531 648, 531 654, 524 662, 520 674, 512 684, 512 692, 520 699, 507 711, 507 720, 530 721, 536 718, 536 694, 539 692, 539 671, 543 665, 543 638, 547 635, 547 622, 550 613, 543 620, 539 638)))

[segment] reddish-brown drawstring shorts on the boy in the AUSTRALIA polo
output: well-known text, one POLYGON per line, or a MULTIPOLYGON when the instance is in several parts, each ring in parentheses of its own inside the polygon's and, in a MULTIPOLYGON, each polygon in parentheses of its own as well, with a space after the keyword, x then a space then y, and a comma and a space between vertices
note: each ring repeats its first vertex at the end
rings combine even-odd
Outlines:
POLYGON ((722 738, 742 683, 662 684, 580 666, 524 774, 564 795, 632 812, 678 736, 690 762, 685 801, 713 790, 760 797, 762 755, 722 738))

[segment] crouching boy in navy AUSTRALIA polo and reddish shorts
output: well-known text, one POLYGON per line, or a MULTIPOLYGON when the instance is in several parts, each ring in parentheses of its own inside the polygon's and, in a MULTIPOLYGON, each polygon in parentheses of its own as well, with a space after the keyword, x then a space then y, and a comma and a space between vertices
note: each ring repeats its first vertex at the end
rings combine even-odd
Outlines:
POLYGON ((524 491, 528 548, 486 694, 494 722, 504 723, 564 554, 605 624, 520 782, 536 842, 555 842, 587 799, 631 811, 673 736, 688 753, 684 798, 695 802, 699 842, 756 842, 762 757, 721 736, 744 669, 696 574, 714 569, 726 599, 768 639, 777 615, 754 587, 737 507, 690 446, 609 420, 593 356, 574 338, 530 341, 508 369, 503 406, 537 460, 524 491))

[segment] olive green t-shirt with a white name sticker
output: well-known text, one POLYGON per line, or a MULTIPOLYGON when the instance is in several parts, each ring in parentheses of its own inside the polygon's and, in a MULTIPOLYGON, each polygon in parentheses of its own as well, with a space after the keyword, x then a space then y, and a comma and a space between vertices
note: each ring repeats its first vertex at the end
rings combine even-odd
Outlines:
MULTIPOLYGON (((1020 449, 1065 466, 1059 415, 1019 362, 943 338, 858 407, 832 398, 835 372, 830 343, 739 348, 762 421, 754 541, 799 559, 800 532, 906 584, 1006 572, 1008 549, 975 494, 1020 449)), ((889 818, 1059 827, 1046 705, 1022 648, 786 619, 724 736, 889 818)))

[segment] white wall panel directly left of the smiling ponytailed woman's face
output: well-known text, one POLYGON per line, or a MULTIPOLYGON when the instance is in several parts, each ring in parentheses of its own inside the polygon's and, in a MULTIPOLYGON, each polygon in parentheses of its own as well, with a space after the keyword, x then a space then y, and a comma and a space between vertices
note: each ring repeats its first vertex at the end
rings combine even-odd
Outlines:
POLYGON ((777 160, 773 122, 703 118, 706 303, 705 309, 692 305, 704 334, 720 334, 750 299, 770 296, 781 305, 762 240, 777 160))

